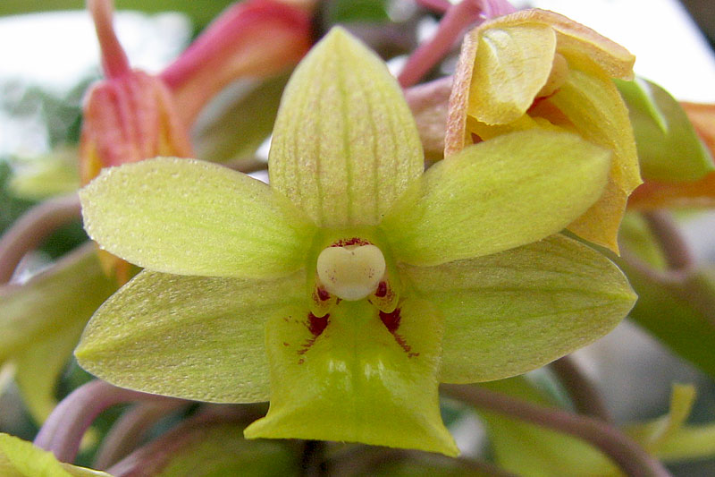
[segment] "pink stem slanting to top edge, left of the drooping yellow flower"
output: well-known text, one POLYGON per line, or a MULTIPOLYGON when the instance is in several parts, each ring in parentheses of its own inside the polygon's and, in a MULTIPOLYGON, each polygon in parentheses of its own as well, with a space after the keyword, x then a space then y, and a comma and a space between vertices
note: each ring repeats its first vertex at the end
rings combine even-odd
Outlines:
MULTIPOLYGON (((433 2, 429 3, 433 4, 433 2)), ((434 37, 417 47, 409 57, 398 76, 400 86, 407 88, 420 81, 426 72, 450 52, 468 26, 515 11, 506 0, 462 0, 458 4, 451 5, 442 17, 434 37)))

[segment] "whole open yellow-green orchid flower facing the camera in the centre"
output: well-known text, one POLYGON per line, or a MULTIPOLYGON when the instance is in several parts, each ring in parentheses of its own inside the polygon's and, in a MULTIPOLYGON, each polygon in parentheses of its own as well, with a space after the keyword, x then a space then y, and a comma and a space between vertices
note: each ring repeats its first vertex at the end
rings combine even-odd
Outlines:
POLYGON ((284 92, 270 187, 156 158, 80 192, 88 233, 146 268, 91 319, 80 364, 152 393, 270 399, 248 438, 456 455, 440 381, 551 362, 634 294, 557 234, 601 195, 608 150, 534 129, 423 161, 397 82, 332 30, 284 92))

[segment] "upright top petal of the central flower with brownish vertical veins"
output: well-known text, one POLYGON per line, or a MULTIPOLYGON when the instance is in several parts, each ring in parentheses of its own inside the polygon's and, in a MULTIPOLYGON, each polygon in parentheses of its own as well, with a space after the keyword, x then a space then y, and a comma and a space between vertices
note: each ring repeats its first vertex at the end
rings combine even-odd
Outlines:
POLYGON ((335 28, 293 73, 273 129, 271 186, 318 226, 374 226, 424 158, 382 60, 335 28))

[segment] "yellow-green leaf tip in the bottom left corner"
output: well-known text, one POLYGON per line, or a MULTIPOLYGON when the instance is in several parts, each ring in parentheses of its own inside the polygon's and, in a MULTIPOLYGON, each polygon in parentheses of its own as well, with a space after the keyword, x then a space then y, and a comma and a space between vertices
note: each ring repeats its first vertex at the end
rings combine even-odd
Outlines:
POLYGON ((3 477, 112 477, 85 467, 62 464, 51 452, 3 433, 0 433, 0 474, 3 477))

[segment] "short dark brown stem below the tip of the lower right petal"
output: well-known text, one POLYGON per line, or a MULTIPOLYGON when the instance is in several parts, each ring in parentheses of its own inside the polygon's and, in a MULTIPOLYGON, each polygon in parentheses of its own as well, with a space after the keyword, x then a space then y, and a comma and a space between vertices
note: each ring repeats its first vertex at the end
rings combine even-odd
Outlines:
POLYGON ((605 422, 613 422, 603 396, 596 388, 592 379, 585 375, 573 356, 564 356, 551 363, 551 371, 559 378, 559 382, 566 388, 568 396, 582 413, 605 422))

